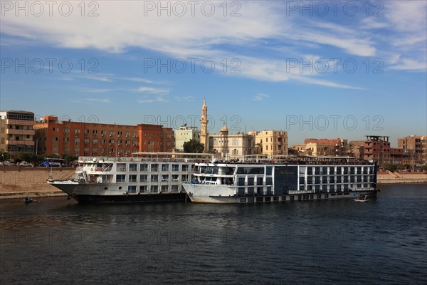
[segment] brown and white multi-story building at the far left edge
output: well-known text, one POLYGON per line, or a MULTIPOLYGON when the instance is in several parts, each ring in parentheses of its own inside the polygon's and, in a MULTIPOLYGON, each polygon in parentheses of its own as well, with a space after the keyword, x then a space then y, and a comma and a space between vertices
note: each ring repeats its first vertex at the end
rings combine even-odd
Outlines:
POLYGON ((34 113, 27 111, 0 111, 0 152, 11 155, 34 151, 34 113))

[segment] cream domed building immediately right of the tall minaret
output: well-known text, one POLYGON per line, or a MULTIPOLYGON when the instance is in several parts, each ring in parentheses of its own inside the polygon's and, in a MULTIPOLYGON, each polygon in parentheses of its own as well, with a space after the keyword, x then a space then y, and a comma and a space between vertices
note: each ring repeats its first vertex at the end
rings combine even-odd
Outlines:
POLYGON ((228 128, 223 125, 218 135, 209 135, 209 152, 221 157, 236 157, 255 154, 253 135, 246 133, 228 134, 228 128))

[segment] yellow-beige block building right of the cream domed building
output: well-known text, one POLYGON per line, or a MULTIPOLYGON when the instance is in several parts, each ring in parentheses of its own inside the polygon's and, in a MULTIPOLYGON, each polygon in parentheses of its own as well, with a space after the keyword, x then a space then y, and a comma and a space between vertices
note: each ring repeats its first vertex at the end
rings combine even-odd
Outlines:
POLYGON ((255 154, 288 155, 288 132, 283 130, 251 131, 255 140, 255 154))

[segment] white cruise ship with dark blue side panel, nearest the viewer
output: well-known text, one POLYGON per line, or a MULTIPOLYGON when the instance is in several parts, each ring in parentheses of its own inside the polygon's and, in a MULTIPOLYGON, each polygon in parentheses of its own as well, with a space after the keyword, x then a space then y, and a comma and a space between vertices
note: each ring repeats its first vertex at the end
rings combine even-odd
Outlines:
POLYGON ((192 202, 251 203, 375 197, 376 165, 354 157, 196 163, 183 187, 192 202))

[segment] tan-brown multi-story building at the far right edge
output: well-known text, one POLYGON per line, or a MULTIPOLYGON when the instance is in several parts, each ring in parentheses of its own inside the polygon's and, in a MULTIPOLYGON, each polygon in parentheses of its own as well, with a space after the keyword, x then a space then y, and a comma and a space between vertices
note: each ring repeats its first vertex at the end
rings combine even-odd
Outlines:
POLYGON ((422 165, 427 162, 427 136, 410 135, 397 139, 397 147, 404 150, 405 165, 422 165))

